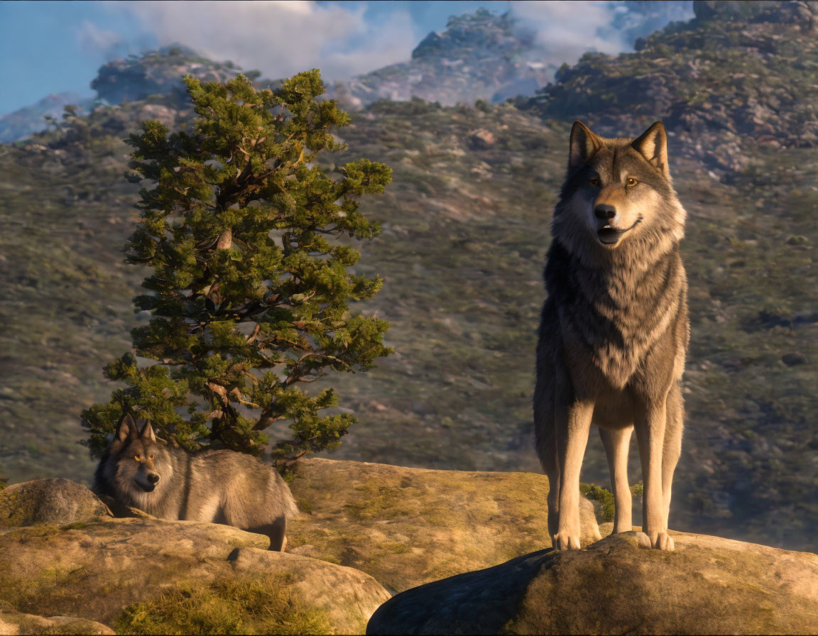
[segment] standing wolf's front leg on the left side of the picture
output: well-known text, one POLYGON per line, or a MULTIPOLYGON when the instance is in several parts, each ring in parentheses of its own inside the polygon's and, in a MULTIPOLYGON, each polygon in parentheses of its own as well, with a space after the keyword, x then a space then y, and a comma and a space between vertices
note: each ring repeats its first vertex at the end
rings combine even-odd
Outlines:
POLYGON ((593 414, 592 401, 559 406, 555 413, 560 459, 560 522, 553 541, 558 550, 580 549, 579 470, 593 414))

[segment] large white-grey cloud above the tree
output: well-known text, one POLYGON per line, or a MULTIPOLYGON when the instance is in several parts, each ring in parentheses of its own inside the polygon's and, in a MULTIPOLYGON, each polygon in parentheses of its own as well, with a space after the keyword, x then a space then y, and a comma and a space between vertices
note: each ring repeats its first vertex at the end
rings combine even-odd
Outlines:
POLYGON ((362 5, 316 2, 111 2, 140 20, 160 45, 182 43, 215 60, 232 60, 281 78, 320 68, 330 80, 408 60, 411 17, 395 11, 370 24, 362 5))

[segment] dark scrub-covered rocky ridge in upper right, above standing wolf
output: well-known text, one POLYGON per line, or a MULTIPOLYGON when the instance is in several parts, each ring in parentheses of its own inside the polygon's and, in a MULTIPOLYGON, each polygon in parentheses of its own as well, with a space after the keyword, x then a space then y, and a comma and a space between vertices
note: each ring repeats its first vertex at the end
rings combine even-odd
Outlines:
POLYGON ((582 56, 521 107, 603 134, 663 119, 685 152, 724 175, 747 153, 818 145, 818 2, 694 2, 617 57, 582 56))

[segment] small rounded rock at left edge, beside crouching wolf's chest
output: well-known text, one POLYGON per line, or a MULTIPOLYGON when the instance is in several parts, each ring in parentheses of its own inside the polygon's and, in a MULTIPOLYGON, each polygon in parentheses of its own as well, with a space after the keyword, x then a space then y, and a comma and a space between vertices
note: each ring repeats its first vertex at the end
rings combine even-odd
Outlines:
POLYGON ((110 517, 110 511, 91 490, 62 477, 25 481, 0 490, 0 528, 65 525, 94 517, 110 517))

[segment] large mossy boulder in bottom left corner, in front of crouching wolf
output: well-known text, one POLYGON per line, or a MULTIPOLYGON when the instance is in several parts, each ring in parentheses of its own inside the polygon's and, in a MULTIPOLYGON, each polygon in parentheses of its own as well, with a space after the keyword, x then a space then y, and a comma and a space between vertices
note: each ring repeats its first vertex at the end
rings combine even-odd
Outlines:
MULTIPOLYGON (((18 490, 48 490, 32 483, 18 490)), ((91 495, 71 487, 80 499, 91 495)), ((33 509, 20 492, 15 501, 33 509)), ((62 633, 69 627, 57 624, 67 619, 40 617, 72 616, 118 632, 348 634, 362 632, 389 598, 363 572, 271 553, 268 545, 266 536, 231 526, 144 514, 0 527, 0 598, 10 604, 3 620, 11 625, 3 629, 62 633), (29 626, 14 627, 12 618, 29 626)))

